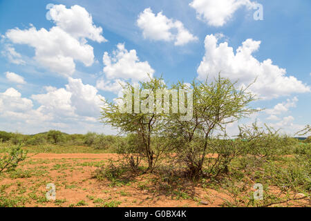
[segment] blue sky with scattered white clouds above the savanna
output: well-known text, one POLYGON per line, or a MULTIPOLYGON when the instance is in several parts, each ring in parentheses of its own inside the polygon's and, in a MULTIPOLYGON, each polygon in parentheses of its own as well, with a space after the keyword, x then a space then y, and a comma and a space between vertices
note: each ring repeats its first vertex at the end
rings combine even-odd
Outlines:
POLYGON ((258 77, 252 106, 266 110, 238 123, 294 133, 311 122, 310 10, 305 0, 0 0, 0 130, 113 133, 97 119, 118 82, 221 71, 241 85, 258 77))

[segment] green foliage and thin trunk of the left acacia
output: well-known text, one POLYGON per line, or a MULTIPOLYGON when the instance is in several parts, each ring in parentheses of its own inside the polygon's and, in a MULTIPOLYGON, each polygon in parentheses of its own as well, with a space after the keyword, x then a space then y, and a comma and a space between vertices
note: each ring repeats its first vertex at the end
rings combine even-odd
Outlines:
MULTIPOLYGON (((162 78, 150 78, 147 82, 140 82, 140 92, 142 90, 149 90, 153 95, 156 95, 158 89, 164 88, 167 88, 167 86, 164 84, 162 78)), ((131 86, 131 84, 126 84, 124 89, 131 92, 133 110, 135 88, 131 86)), ((126 95, 124 95, 124 97, 126 97, 126 95)), ((147 99, 149 99, 149 95, 145 97, 142 96, 142 99, 139 100, 140 104, 142 104, 142 100, 147 99)), ((147 104, 147 106, 149 105, 151 104, 147 104)), ((133 133, 140 137, 140 139, 137 140, 137 146, 139 148, 137 151, 140 153, 140 157, 148 162, 147 170, 149 171, 153 171, 153 169, 160 164, 160 155, 166 148, 165 146, 153 146, 152 137, 159 135, 160 131, 162 131, 164 114, 154 113, 154 111, 151 112, 153 113, 135 113, 133 110, 132 113, 122 113, 119 106, 111 102, 102 107, 101 117, 104 124, 109 124, 114 128, 120 129, 121 133, 125 135, 133 133)))

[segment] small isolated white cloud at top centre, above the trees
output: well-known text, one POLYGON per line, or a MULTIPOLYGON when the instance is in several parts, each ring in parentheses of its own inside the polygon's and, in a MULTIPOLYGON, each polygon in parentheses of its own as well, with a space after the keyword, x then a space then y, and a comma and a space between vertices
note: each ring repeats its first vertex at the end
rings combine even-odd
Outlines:
POLYGON ((181 21, 167 18, 162 12, 154 14, 151 8, 140 13, 137 25, 142 29, 144 38, 156 41, 173 41, 176 46, 183 46, 198 37, 192 35, 181 21))

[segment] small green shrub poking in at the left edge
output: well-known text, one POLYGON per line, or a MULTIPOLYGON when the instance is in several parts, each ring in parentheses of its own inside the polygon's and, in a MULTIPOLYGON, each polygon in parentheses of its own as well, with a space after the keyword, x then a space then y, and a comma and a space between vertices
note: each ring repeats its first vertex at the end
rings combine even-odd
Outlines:
POLYGON ((23 151, 21 144, 6 148, 4 155, 0 156, 0 173, 14 170, 19 162, 26 159, 26 151, 23 151))

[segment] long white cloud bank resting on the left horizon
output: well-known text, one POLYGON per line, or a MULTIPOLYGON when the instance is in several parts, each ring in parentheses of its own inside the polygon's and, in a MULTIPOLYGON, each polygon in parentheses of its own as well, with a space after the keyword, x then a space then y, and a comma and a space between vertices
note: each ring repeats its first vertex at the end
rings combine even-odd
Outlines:
POLYGON ((0 93, 0 130, 39 133, 51 129, 67 133, 97 131, 115 133, 100 124, 104 97, 81 79, 68 79, 66 88, 46 87, 46 93, 22 97, 15 88, 0 93), (35 108, 34 103, 39 103, 35 108))

